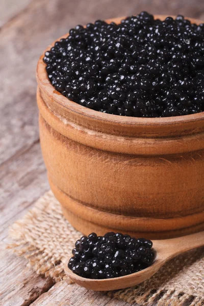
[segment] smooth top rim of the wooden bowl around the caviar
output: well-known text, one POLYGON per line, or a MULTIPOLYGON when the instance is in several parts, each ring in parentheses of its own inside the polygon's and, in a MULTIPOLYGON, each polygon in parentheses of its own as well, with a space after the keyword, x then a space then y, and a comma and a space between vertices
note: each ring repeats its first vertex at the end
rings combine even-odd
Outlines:
MULTIPOLYGON (((154 15, 155 18, 159 18, 161 20, 165 19, 167 16, 169 15, 154 15)), ((120 20, 122 20, 123 18, 125 17, 122 16, 117 18, 106 19, 106 22, 110 23, 114 21, 117 23, 120 22, 120 20)), ((194 18, 188 18, 188 19, 193 23, 202 22, 199 19, 194 19, 194 18)), ((56 41, 59 41, 62 38, 66 38, 68 35, 69 35, 68 33, 62 35, 61 37, 57 38, 54 42, 52 42, 46 47, 46 49, 40 56, 36 69, 37 83, 40 89, 43 90, 49 97, 52 97, 53 100, 62 107, 68 109, 73 113, 85 116, 87 118, 92 118, 98 121, 106 121, 110 123, 120 123, 121 125, 145 125, 145 126, 174 125, 174 124, 177 125, 182 123, 192 123, 195 121, 197 122, 200 120, 204 120, 204 111, 196 114, 174 116, 174 117, 155 117, 155 118, 143 118, 143 117, 131 117, 131 116, 129 117, 129 116, 119 116, 119 115, 95 111, 85 106, 81 106, 80 104, 75 103, 72 100, 69 100, 68 98, 63 96, 60 92, 56 91, 54 86, 50 83, 45 69, 46 64, 43 62, 44 53, 50 48, 52 48, 56 41)))

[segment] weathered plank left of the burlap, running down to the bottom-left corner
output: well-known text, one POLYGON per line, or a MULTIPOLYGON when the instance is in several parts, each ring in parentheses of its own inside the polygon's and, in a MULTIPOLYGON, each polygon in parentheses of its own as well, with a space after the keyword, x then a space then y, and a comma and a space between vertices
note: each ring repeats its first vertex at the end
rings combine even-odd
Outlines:
POLYGON ((0 166, 0 305, 27 306, 53 286, 53 281, 37 275, 28 261, 5 249, 8 226, 48 189, 39 141, 14 160, 0 166))

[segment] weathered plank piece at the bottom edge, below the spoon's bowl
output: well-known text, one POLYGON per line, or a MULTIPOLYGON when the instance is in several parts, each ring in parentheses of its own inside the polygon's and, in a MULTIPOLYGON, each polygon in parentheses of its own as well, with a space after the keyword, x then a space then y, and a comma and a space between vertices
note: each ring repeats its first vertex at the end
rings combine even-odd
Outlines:
POLYGON ((122 300, 108 297, 105 293, 94 292, 65 281, 55 284, 42 294, 31 306, 130 306, 122 300))

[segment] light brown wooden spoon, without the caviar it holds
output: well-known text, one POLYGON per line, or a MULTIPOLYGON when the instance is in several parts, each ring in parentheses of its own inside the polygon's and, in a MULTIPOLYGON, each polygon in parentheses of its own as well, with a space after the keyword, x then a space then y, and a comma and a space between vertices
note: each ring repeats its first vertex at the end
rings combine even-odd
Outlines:
POLYGON ((152 242, 156 251, 155 262, 150 267, 137 273, 108 279, 90 279, 74 274, 67 265, 65 266, 65 272, 74 283, 91 290, 108 291, 132 287, 144 282, 176 255, 203 246, 204 232, 173 239, 154 240, 152 242))

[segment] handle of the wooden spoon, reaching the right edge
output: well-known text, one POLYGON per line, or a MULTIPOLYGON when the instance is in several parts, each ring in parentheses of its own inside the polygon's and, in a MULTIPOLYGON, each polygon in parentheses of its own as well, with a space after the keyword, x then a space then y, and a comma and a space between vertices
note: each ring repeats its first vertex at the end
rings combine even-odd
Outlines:
POLYGON ((160 259, 165 261, 199 246, 204 246, 204 232, 173 239, 157 240, 154 243, 160 259))

